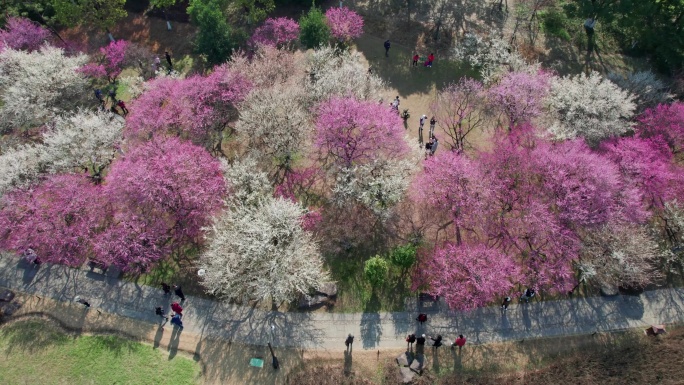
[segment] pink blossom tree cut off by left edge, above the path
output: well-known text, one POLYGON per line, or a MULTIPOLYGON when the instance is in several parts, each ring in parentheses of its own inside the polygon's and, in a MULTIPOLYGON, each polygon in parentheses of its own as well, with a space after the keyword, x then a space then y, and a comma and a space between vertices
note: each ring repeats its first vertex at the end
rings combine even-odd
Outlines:
POLYGON ((45 262, 79 266, 104 214, 101 187, 86 175, 53 175, 0 201, 0 247, 33 249, 45 262))

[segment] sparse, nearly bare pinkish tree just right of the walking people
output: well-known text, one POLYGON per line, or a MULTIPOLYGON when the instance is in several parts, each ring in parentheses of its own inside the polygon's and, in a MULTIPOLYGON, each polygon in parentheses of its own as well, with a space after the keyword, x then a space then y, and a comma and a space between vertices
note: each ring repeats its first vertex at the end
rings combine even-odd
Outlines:
POLYGON ((484 124, 479 109, 483 98, 482 83, 464 77, 441 90, 430 105, 430 111, 449 137, 454 151, 462 152, 467 145, 466 137, 484 124))

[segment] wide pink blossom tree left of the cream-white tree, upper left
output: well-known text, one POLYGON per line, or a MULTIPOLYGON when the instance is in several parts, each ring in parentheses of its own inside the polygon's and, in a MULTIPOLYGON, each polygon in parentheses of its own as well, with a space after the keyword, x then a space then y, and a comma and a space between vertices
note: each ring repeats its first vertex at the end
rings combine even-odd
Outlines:
POLYGON ((214 140, 213 148, 220 151, 223 130, 251 88, 249 80, 226 65, 209 76, 153 80, 131 103, 125 136, 168 132, 205 145, 214 140))

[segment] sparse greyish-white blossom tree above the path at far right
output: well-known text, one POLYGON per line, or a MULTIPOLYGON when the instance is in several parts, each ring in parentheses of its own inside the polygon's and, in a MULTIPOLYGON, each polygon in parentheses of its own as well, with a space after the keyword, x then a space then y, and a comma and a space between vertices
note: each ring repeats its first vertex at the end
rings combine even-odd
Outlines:
POLYGON ((580 279, 599 285, 646 285, 658 277, 658 243, 644 226, 612 224, 588 232, 580 279))

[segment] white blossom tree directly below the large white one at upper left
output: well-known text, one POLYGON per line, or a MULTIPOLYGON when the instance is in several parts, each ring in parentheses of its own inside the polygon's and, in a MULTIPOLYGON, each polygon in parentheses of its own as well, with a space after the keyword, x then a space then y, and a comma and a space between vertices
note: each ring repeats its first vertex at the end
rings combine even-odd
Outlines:
POLYGON ((124 120, 109 112, 79 110, 55 119, 45 133, 45 158, 50 172, 90 170, 100 176, 120 148, 124 120))

